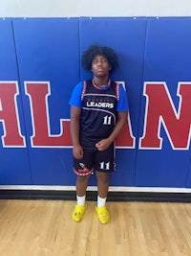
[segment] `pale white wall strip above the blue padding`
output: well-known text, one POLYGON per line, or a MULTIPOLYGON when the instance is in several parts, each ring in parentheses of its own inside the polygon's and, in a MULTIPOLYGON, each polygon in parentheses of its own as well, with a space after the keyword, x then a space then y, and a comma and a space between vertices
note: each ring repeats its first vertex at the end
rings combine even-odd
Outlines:
POLYGON ((189 0, 0 0, 1 17, 189 16, 189 0))

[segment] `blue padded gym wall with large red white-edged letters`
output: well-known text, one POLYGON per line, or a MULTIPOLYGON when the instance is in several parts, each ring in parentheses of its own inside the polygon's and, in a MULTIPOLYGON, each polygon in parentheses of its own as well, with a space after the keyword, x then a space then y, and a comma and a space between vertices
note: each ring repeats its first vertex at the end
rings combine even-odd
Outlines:
MULTIPOLYGON (((0 20, 0 184, 74 186, 69 99, 92 43, 117 51, 130 105, 111 186, 190 188, 189 17, 0 20)), ((90 185, 96 185, 95 175, 90 185)))

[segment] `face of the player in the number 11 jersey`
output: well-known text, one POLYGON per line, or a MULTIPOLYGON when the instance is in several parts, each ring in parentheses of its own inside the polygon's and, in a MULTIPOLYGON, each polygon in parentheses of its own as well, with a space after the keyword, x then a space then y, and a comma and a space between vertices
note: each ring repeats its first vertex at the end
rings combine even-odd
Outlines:
POLYGON ((92 72, 96 77, 108 77, 111 66, 107 58, 97 55, 92 61, 92 72))

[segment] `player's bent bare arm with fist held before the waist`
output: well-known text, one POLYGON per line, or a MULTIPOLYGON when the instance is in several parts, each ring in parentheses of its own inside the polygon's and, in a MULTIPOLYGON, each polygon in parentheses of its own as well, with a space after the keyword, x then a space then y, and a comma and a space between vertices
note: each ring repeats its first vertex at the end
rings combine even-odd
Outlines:
POLYGON ((105 151, 116 140, 122 128, 124 128, 127 122, 128 111, 119 111, 117 112, 117 114, 118 114, 117 125, 113 129, 110 136, 96 143, 96 148, 98 151, 105 151))

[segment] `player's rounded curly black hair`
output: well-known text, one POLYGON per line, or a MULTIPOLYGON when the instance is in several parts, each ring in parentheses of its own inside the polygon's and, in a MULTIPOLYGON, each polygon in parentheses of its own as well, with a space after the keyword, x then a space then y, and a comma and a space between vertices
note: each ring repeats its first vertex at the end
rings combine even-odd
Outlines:
POLYGON ((91 71, 92 70, 92 61, 97 55, 101 55, 101 56, 107 58, 109 64, 111 65, 111 68, 112 68, 110 72, 114 73, 114 71, 118 67, 117 54, 115 53, 115 51, 112 48, 110 48, 108 46, 100 46, 97 44, 90 46, 88 48, 88 50, 86 50, 83 53, 82 59, 81 59, 83 68, 86 71, 91 71))

